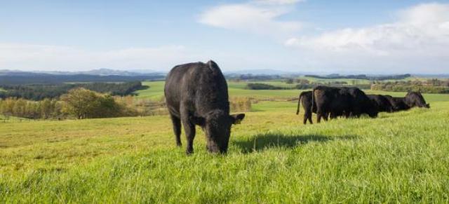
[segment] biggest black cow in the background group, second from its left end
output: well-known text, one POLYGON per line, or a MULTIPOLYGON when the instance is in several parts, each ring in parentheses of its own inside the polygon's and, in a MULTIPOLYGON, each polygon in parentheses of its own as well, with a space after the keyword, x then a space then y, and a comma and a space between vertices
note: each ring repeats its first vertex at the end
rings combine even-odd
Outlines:
POLYGON ((375 104, 358 88, 318 86, 312 90, 312 104, 314 103, 318 123, 326 113, 330 114, 330 118, 358 117, 361 114, 375 118, 378 114, 375 104))

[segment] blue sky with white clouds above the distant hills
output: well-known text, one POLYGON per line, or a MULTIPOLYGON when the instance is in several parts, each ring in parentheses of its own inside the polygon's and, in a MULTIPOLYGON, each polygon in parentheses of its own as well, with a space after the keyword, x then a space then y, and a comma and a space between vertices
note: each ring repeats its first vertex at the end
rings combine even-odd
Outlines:
POLYGON ((4 1, 0 69, 448 74, 449 1, 4 1))

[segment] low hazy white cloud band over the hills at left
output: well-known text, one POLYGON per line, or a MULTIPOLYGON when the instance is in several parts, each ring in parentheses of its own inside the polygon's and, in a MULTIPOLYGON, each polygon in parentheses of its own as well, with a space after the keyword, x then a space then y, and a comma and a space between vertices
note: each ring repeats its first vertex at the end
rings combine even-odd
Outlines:
POLYGON ((0 43, 0 69, 77 71, 112 69, 169 70, 176 64, 202 59, 183 46, 83 50, 67 46, 0 43))

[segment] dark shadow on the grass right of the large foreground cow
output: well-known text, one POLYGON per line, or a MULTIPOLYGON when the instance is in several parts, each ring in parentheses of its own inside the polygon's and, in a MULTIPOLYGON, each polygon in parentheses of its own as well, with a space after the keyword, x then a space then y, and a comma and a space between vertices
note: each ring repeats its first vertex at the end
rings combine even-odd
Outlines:
POLYGON ((332 140, 354 140, 356 135, 326 136, 326 135, 283 135, 281 133, 268 133, 253 135, 246 140, 235 141, 237 147, 244 154, 263 151, 269 148, 294 148, 308 142, 329 142, 332 140))

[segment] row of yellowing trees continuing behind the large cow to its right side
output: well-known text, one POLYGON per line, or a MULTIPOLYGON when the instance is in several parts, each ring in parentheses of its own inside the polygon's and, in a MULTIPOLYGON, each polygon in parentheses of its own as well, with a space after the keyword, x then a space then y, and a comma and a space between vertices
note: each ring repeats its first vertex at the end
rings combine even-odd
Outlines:
MULTIPOLYGON (((232 111, 250 111, 249 98, 232 98, 232 111)), ((164 100, 112 96, 85 88, 74 88, 58 99, 39 101, 8 97, 0 99, 0 115, 29 119, 114 118, 168 114, 164 100)))

